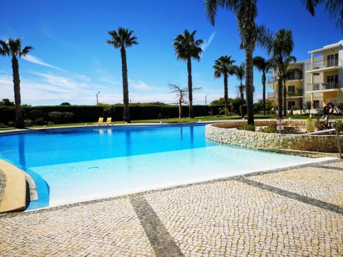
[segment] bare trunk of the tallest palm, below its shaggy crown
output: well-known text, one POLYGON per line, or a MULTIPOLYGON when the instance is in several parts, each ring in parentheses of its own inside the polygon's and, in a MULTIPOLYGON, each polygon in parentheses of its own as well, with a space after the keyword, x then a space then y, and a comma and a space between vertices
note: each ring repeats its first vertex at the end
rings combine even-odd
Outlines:
POLYGON ((254 73, 252 64, 252 50, 246 49, 246 110, 248 112, 248 125, 254 125, 254 73))

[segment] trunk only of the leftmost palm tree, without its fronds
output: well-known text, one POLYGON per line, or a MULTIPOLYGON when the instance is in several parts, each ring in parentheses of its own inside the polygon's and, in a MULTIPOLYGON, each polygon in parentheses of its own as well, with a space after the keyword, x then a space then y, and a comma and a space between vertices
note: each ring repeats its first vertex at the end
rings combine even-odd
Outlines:
POLYGON ((14 86, 14 103, 16 104, 16 127, 23 128, 24 121, 21 114, 21 80, 19 78, 19 63, 16 57, 12 57, 12 75, 14 86))

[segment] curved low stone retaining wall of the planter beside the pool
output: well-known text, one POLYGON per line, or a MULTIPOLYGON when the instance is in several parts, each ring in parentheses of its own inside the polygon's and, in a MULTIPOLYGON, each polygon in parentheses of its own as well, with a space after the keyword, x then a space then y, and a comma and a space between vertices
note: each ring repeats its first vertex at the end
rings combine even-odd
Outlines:
MULTIPOLYGON (((320 151, 323 153, 338 152, 337 137, 335 135, 309 135, 279 138, 280 136, 291 135, 237 130, 238 126, 244 124, 246 124, 246 121, 206 125, 206 138, 220 143, 255 149, 292 149, 299 151, 320 151), (265 140, 268 138, 270 139, 265 140)), ((255 121, 255 126, 275 124, 276 121, 255 121)), ((289 120, 285 121, 285 125, 304 127, 305 121, 289 120)), ((340 140, 341 145, 343 145, 343 136, 340 136, 340 140)))

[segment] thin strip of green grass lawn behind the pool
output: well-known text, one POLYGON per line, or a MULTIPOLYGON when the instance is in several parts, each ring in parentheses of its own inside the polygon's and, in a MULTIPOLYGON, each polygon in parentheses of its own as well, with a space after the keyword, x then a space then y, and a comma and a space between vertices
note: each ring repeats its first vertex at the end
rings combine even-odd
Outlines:
MULTIPOLYGON (((276 119, 277 115, 261 115, 261 114, 255 114, 255 119, 276 119)), ((309 115, 303 114, 303 115, 287 115, 287 117, 284 117, 284 119, 288 119, 289 117, 292 117, 292 119, 307 119, 309 118, 309 115)), ((333 116, 330 117, 331 119, 343 119, 343 116, 333 116)), ((196 117, 194 119, 191 118, 173 118, 173 119, 162 119, 163 123, 189 123, 189 122, 197 122, 199 120, 201 121, 230 121, 230 120, 239 120, 241 117, 239 115, 235 116, 207 116, 207 117, 196 117)), ((136 120, 131 121, 131 123, 159 123, 159 119, 147 119, 147 120, 136 120)), ((115 121, 114 124, 123 124, 123 121, 115 121)), ((67 123, 67 124, 53 124, 53 125, 47 125, 47 127, 68 127, 68 126, 77 126, 77 125, 93 125, 93 122, 88 123, 67 123)), ((42 125, 34 125, 29 128, 38 128, 43 127, 42 125)), ((1 131, 8 131, 8 130, 14 130, 14 127, 7 127, 7 128, 1 128, 1 131)))

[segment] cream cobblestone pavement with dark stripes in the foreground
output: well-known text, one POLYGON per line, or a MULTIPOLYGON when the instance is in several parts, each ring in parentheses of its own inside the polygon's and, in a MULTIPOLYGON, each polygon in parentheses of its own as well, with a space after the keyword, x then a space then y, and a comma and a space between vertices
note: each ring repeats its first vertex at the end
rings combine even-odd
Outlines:
POLYGON ((343 162, 0 217, 0 256, 343 256, 343 162))

